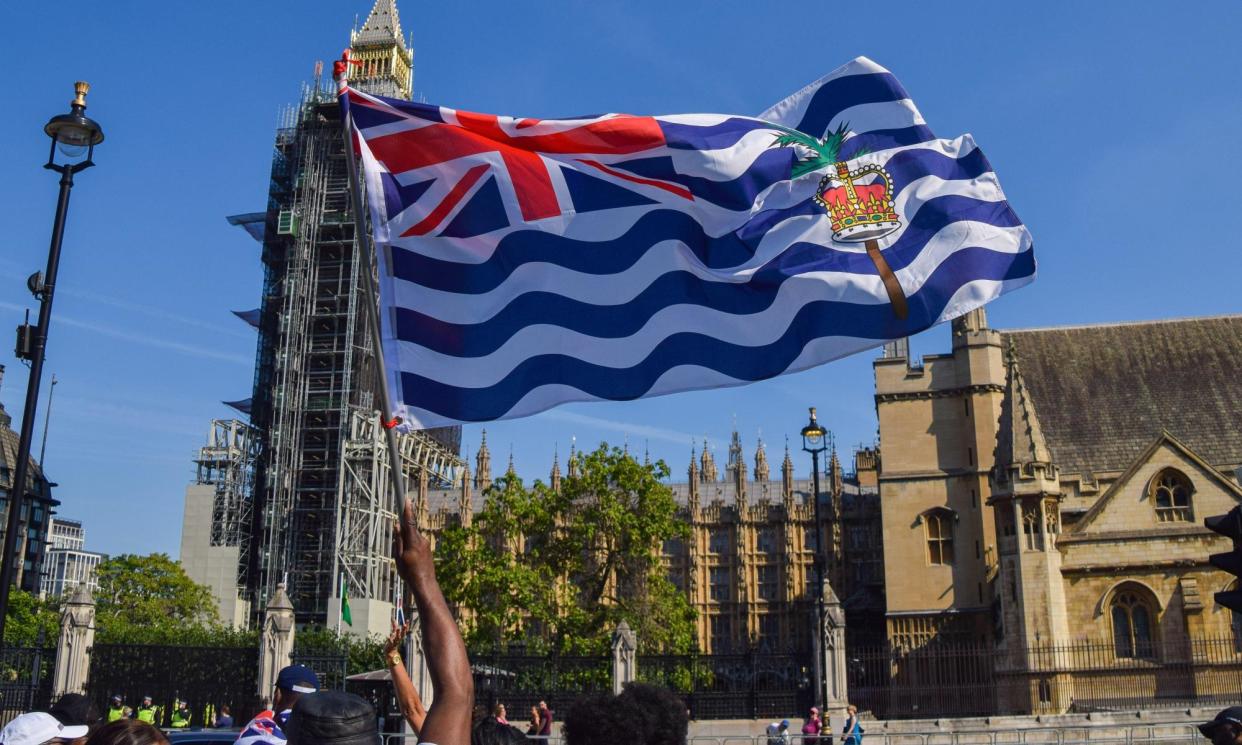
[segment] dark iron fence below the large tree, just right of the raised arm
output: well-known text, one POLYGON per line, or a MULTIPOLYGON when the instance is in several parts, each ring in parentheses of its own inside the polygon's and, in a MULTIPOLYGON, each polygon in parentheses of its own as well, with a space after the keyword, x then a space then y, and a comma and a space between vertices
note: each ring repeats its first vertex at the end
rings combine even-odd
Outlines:
POLYGON ((476 649, 469 659, 476 703, 488 711, 497 703, 504 704, 514 724, 527 721, 530 707, 539 702, 546 702, 554 714, 564 714, 581 695, 612 690, 611 657, 540 654, 510 647, 476 649))

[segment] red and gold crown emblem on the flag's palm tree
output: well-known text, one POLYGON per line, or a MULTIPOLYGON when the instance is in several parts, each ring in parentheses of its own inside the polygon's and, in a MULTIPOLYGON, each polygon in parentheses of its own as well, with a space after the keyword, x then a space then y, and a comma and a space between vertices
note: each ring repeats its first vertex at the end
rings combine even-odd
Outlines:
POLYGON ((893 210, 893 179, 887 170, 878 165, 850 170, 840 161, 835 165, 836 173, 820 179, 815 192, 816 204, 832 219, 833 241, 861 243, 882 238, 902 226, 893 210))

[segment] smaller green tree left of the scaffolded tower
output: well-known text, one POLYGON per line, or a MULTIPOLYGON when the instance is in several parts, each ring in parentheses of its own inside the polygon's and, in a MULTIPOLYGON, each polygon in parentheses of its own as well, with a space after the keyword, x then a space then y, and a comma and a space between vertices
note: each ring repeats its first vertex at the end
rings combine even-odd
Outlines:
MULTIPOLYGON (((229 637, 211 590, 166 554, 122 554, 99 564, 96 626, 104 643, 173 643, 229 637)), ((201 643, 201 642, 197 642, 201 643)))

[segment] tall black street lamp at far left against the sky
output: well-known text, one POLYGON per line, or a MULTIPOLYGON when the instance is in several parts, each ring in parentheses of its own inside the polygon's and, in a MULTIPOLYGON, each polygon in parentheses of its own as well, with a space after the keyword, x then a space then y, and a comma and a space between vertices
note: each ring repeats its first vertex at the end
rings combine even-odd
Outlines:
POLYGON ((56 288, 56 271, 61 263, 61 238, 65 236, 65 214, 70 206, 73 175, 94 165, 91 158, 94 147, 103 142, 103 129, 86 115, 86 94, 91 86, 73 83, 76 96, 70 102, 70 113, 52 117, 43 132, 52 139, 47 163, 43 168, 61 174, 61 192, 56 201, 56 221, 52 224, 52 243, 47 250, 47 273, 35 272, 26 281, 31 294, 39 300, 39 324, 24 323, 17 327, 19 359, 30 361, 30 381, 26 384, 26 406, 21 415, 21 436, 17 442, 17 463, 9 485, 9 519, 5 524, 4 558, 0 562, 0 647, 4 644, 5 617, 9 612, 9 590, 12 585, 17 556, 17 533, 21 530, 21 512, 26 504, 26 481, 30 471, 30 446, 35 435, 35 412, 39 409, 39 382, 43 372, 43 350, 47 346, 47 328, 52 318, 52 292, 56 288), (57 155, 60 153, 60 155, 57 155), (84 158, 83 158, 84 155, 84 158))

